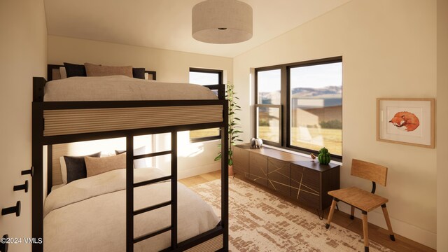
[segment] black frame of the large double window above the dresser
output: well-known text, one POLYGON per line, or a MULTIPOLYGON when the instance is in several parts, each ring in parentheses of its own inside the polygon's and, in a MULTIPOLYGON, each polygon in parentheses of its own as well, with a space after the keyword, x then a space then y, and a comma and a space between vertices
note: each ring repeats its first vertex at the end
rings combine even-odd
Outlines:
MULTIPOLYGON (((304 154, 310 154, 310 153, 314 153, 314 154, 318 154, 318 151, 314 151, 311 149, 307 149, 307 148, 302 148, 299 146, 292 146, 290 143, 290 137, 291 137, 291 130, 290 130, 290 124, 291 124, 291 118, 290 118, 290 113, 291 113, 291 108, 290 108, 290 69, 295 68, 295 67, 300 67, 300 66, 315 66, 315 65, 320 65, 320 64, 331 64, 331 63, 337 63, 337 62, 341 62, 342 63, 342 56, 337 56, 337 57, 328 57, 328 58, 323 58, 323 59, 312 59, 312 60, 307 60, 304 62, 294 62, 294 63, 288 63, 288 64, 279 64, 279 65, 275 65, 275 66, 263 66, 263 67, 258 67, 255 68, 255 106, 254 106, 254 111, 253 111, 253 115, 255 118, 255 123, 254 123, 254 127, 253 130, 255 132, 255 136, 258 137, 258 117, 257 117, 257 108, 260 106, 278 106, 278 105, 267 105, 267 104, 258 104, 258 72, 260 71, 269 71, 269 70, 275 70, 275 69, 280 69, 281 71, 281 90, 280 90, 280 107, 281 107, 281 122, 280 122, 280 139, 279 139, 279 143, 275 143, 272 141, 267 141, 265 139, 263 140, 263 143, 268 144, 270 146, 276 146, 278 148, 283 148, 286 150, 290 150, 290 151, 297 151, 299 153, 304 153, 304 154)), ((344 97, 342 97, 342 99, 344 99, 344 97)), ((342 161, 342 155, 335 155, 335 154, 330 154, 330 156, 332 157, 333 160, 336 161, 342 161)))

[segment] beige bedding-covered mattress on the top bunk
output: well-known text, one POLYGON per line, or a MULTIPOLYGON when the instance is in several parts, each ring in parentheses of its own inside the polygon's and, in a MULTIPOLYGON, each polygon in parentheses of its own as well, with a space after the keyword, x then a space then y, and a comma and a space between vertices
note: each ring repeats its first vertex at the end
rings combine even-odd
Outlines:
POLYGON ((218 99, 207 87, 127 76, 71 77, 45 84, 44 102, 218 99))

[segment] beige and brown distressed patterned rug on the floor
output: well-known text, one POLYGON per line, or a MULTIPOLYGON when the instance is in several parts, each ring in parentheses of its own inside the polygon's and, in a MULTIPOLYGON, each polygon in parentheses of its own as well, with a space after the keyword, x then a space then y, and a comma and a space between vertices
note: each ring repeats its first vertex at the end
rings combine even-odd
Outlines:
MULTIPOLYGON (((191 188, 221 216, 221 180, 191 188)), ((360 235, 249 183, 229 178, 230 251, 364 251, 360 235)), ((392 251, 370 241, 370 251, 392 251)))

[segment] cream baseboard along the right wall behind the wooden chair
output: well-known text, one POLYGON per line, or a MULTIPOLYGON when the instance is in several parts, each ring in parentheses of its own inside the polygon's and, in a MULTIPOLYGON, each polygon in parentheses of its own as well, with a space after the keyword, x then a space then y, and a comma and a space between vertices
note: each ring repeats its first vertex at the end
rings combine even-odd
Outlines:
MULTIPOLYGON (((350 214, 350 207, 347 204, 341 203, 338 204, 339 211, 343 211, 346 214, 350 214)), ((355 211, 356 218, 361 218, 360 211, 355 211)), ((401 235, 402 237, 406 237, 407 239, 412 239, 413 241, 418 242, 419 244, 423 244, 430 248, 436 248, 437 246, 437 234, 434 232, 430 232, 428 230, 423 230, 415 225, 411 225, 409 223, 405 223, 403 221, 397 220, 392 216, 391 224, 393 232, 397 235, 401 235)), ((368 221, 374 225, 377 225, 381 228, 387 230, 386 221, 384 221, 384 215, 381 211, 381 208, 376 209, 374 211, 370 211, 368 214, 368 221)))

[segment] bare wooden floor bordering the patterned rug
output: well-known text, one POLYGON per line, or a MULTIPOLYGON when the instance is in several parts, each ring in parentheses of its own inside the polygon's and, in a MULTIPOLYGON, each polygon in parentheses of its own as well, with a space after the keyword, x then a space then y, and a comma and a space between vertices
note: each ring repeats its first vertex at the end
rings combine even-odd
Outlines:
MULTIPOLYGON (((207 183, 207 182, 213 181, 215 179, 221 179, 221 171, 211 172, 208 174, 201 174, 201 175, 193 176, 193 177, 190 177, 187 179, 181 179, 181 180, 179 180, 179 182, 190 187, 190 186, 196 186, 200 183, 207 183)), ((238 175, 235 178, 229 177, 229 179, 241 179, 243 181, 251 183, 251 181, 241 178, 238 175)), ((251 184, 253 186, 257 186, 258 188, 261 188, 262 190, 266 190, 269 193, 274 193, 272 190, 258 186, 256 183, 251 183, 251 184)), ((293 202, 290 199, 288 199, 287 197, 282 197, 281 195, 278 195, 276 193, 274 193, 274 194, 278 197, 281 197, 283 200, 287 200, 288 202, 297 204, 297 202, 293 202)), ((309 207, 306 207, 304 205, 299 205, 299 206, 302 207, 303 209, 307 209, 308 211, 311 211, 311 213, 316 214, 315 209, 310 209, 309 207)), ((326 219, 327 216, 328 216, 328 209, 324 213, 324 218, 326 219)), ((333 218, 332 218, 332 223, 336 223, 337 225, 340 225, 343 228, 346 228, 348 230, 356 232, 359 235, 363 235, 363 221, 361 221, 359 218, 355 218, 354 220, 351 220, 349 214, 345 214, 342 211, 335 210, 335 214, 333 215, 333 218)), ((325 221, 323 221, 322 225, 325 225, 325 221)), ((384 228, 380 228, 377 225, 373 225, 372 223, 369 223, 369 239, 372 241, 376 241, 379 244, 386 246, 387 248, 391 248, 393 251, 398 251, 398 252, 401 252, 401 251, 403 251, 403 252, 411 252, 411 251, 435 252, 435 249, 429 248, 428 246, 424 246, 423 244, 419 244, 416 241, 412 241, 411 239, 407 239, 405 237, 402 237, 401 235, 395 234, 395 241, 391 241, 391 239, 389 239, 387 230, 385 230, 384 228)))

